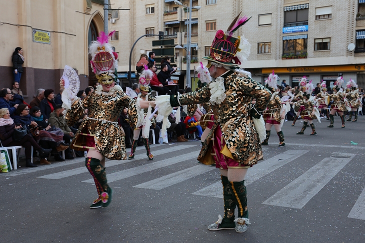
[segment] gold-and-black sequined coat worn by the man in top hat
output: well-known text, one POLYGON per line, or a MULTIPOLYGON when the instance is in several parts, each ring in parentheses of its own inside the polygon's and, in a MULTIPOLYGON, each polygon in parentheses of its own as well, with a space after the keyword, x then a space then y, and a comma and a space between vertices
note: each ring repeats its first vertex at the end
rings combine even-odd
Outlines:
MULTIPOLYGON (((252 98, 256 99, 255 109, 263 111, 271 97, 270 91, 245 74, 229 70, 220 77, 224 78, 226 98, 220 104, 214 104, 214 125, 211 128, 200 154, 200 162, 211 161, 209 145, 214 131, 219 126, 223 143, 238 167, 251 166, 262 159, 260 139, 250 116, 252 98)), ((208 102, 210 98, 210 82, 198 91, 171 96, 171 106, 199 104, 208 102), (177 101, 178 99, 178 101, 177 101)))

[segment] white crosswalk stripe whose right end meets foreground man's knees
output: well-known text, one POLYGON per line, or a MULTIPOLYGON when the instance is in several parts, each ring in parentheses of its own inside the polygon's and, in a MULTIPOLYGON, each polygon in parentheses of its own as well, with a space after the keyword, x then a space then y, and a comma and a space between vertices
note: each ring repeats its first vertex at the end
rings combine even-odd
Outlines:
POLYGON ((149 182, 145 182, 139 185, 136 185, 134 187, 136 188, 144 188, 144 189, 153 189, 153 190, 161 190, 166 187, 175 185, 179 182, 186 181, 190 178, 193 178, 195 176, 198 176, 200 174, 203 174, 205 172, 214 170, 215 167, 210 166, 201 166, 196 165, 191 168, 181 170, 172 174, 169 174, 167 176, 162 176, 160 178, 151 180, 149 182))

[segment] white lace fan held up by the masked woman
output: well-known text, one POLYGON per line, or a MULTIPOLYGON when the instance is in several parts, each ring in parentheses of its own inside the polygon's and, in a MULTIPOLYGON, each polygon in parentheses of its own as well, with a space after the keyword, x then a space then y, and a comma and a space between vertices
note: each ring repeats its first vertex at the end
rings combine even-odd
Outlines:
POLYGON ((76 94, 80 89, 80 80, 72 67, 65 65, 61 77, 64 80, 64 90, 62 92, 62 107, 71 109, 72 100, 77 98, 76 94))

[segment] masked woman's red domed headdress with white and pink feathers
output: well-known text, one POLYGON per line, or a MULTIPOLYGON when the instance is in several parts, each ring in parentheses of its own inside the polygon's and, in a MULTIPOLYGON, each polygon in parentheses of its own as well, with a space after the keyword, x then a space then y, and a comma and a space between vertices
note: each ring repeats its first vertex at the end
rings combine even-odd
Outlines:
POLYGON ((108 43, 109 37, 114 32, 115 30, 106 35, 101 31, 97 40, 91 41, 91 44, 88 47, 88 53, 91 55, 91 68, 96 74, 103 72, 113 73, 118 67, 118 55, 108 43))

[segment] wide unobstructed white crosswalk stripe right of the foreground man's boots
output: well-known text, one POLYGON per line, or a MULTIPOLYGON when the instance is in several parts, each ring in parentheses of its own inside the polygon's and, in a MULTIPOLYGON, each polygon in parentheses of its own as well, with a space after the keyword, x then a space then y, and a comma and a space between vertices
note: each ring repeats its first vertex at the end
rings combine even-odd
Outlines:
POLYGON ((263 204, 301 209, 351 159, 354 154, 333 153, 268 198, 263 204))

